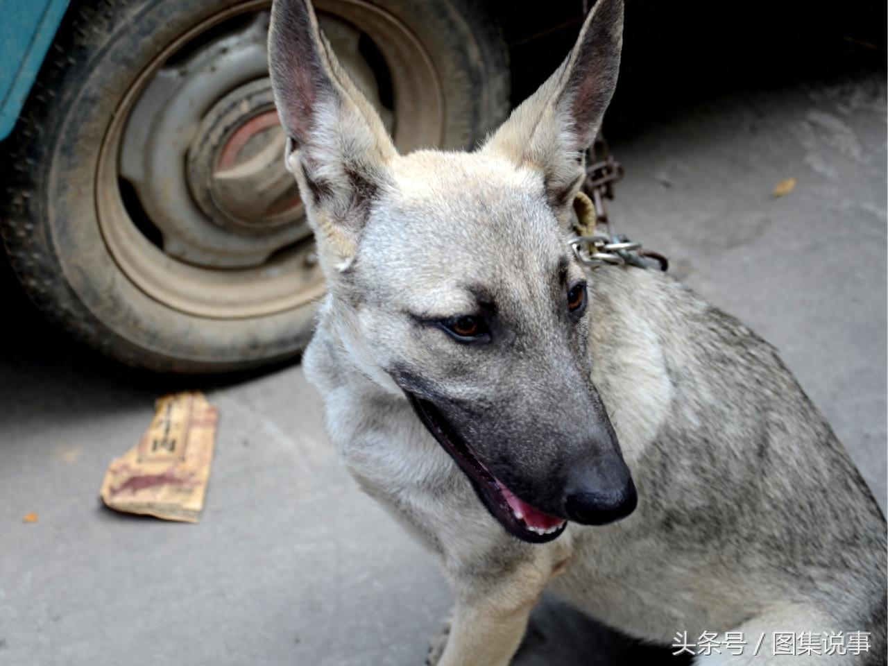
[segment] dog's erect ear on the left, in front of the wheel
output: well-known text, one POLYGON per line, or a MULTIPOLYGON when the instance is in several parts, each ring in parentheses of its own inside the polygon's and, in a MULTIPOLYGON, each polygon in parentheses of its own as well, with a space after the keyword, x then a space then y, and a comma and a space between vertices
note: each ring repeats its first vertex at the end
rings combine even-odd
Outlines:
POLYGON ((373 199, 397 155, 382 121, 339 64, 306 0, 275 0, 268 33, 274 102, 289 137, 321 262, 341 265, 357 249, 373 199))

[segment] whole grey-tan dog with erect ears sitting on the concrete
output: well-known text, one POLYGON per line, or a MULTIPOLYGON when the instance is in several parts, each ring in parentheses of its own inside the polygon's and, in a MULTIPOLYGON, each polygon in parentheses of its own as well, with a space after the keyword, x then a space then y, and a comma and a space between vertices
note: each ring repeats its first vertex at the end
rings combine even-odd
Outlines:
POLYGON ((329 437, 440 559, 455 607, 429 663, 508 664, 547 587, 648 641, 749 641, 700 666, 884 663, 884 517, 773 348, 567 243, 621 47, 622 0, 599 0, 483 145, 399 155, 311 6, 275 0, 285 160, 329 289, 303 357, 329 437), (869 646, 792 658, 775 631, 869 646))

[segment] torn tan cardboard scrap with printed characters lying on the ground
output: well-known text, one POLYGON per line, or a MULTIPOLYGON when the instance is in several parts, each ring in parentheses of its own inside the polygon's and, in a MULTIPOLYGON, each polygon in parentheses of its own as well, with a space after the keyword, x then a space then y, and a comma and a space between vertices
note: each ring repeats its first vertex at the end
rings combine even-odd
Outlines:
POLYGON ((163 396, 139 445, 108 465, 109 508, 195 523, 203 509, 218 413, 201 392, 163 396))

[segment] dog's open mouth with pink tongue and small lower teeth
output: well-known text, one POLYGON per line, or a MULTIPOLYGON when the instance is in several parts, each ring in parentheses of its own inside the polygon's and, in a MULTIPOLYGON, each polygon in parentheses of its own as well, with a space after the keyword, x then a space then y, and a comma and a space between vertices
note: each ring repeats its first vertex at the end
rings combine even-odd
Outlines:
POLYGON ((472 454, 438 408, 412 393, 407 395, 425 427, 472 480, 481 502, 511 535, 530 543, 546 543, 558 538, 567 525, 566 520, 543 513, 516 497, 472 454))

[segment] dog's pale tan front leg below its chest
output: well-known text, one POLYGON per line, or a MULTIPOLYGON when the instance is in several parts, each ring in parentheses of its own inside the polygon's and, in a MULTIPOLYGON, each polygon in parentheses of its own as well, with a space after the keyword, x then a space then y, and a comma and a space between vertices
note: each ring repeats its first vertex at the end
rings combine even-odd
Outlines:
POLYGON ((543 588, 564 571, 565 548, 537 546, 531 559, 508 570, 460 567, 451 571, 456 596, 443 653, 432 647, 431 666, 507 666, 524 637, 543 588))

